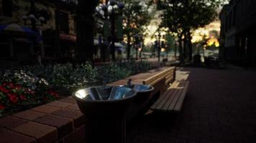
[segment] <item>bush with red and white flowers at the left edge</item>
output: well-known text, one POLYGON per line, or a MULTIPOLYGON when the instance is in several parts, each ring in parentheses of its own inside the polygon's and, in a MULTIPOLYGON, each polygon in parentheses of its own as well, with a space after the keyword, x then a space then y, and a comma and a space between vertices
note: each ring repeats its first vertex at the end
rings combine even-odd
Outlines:
MULTIPOLYGON (((0 78, 0 117, 5 110, 26 109, 57 99, 45 79, 25 71, 6 71, 0 78)), ((12 111, 11 111, 12 112, 12 111)))

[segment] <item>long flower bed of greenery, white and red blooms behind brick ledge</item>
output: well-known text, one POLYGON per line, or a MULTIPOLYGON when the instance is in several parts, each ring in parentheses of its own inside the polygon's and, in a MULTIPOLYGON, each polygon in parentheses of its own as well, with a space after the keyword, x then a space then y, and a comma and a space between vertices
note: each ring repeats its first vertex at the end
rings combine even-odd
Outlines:
POLYGON ((152 69, 147 61, 127 61, 93 68, 91 64, 20 66, 0 71, 0 117, 59 99, 80 87, 101 85, 152 69))

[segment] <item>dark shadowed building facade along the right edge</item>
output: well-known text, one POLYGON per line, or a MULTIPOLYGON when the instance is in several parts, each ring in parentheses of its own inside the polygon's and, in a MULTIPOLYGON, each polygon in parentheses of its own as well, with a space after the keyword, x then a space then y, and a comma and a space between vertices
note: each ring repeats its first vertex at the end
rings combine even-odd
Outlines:
POLYGON ((231 0, 219 15, 219 56, 234 64, 256 66, 256 1, 231 0))

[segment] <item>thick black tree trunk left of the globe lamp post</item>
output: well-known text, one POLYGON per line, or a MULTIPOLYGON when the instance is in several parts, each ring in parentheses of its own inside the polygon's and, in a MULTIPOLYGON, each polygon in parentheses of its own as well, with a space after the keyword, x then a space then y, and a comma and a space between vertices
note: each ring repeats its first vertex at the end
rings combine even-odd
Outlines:
POLYGON ((98 1, 79 0, 76 9, 77 21, 77 47, 76 47, 76 62, 82 63, 85 61, 93 62, 93 26, 94 9, 98 1))

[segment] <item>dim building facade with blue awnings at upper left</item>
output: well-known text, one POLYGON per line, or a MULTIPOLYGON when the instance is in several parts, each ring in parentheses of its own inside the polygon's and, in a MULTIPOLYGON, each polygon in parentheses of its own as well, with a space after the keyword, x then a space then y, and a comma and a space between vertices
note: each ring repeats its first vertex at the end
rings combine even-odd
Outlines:
POLYGON ((12 24, 8 27, 12 32, 0 29, 0 59, 31 61, 38 55, 42 60, 70 58, 76 46, 75 8, 76 4, 62 0, 0 0, 0 26, 12 24), (45 20, 37 19, 34 28, 29 19, 32 9, 35 16, 45 20), (35 33, 21 34, 17 26, 35 33))

